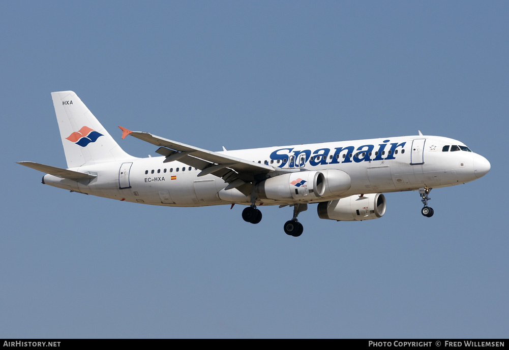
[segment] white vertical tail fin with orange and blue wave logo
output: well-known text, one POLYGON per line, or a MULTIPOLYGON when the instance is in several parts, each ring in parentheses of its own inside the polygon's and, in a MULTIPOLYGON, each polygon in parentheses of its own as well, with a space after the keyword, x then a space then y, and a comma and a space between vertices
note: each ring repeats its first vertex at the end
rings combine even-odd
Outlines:
POLYGON ((133 158, 72 91, 51 93, 69 168, 133 158))

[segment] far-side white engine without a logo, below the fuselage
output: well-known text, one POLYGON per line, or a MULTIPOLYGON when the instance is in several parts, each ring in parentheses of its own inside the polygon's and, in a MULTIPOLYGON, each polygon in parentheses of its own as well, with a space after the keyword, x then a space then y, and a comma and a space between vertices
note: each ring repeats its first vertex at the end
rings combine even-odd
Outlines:
POLYGON ((353 195, 318 203, 320 219, 357 221, 381 218, 385 214, 385 196, 382 193, 353 195))

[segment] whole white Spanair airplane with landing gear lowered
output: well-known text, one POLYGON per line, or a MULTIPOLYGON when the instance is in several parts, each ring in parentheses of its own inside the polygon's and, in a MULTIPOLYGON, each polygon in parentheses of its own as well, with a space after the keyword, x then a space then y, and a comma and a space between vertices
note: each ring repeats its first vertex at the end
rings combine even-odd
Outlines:
POLYGON ((122 150, 72 91, 51 93, 67 168, 21 165, 46 173, 42 183, 100 197, 168 207, 246 206, 242 218, 257 224, 259 207, 293 207, 284 225, 299 237, 299 213, 317 204, 321 219, 381 218, 383 193, 419 191, 421 214, 433 188, 483 177, 490 162, 447 137, 385 137, 212 152, 147 132, 120 127, 158 147, 158 157, 137 158, 122 150))

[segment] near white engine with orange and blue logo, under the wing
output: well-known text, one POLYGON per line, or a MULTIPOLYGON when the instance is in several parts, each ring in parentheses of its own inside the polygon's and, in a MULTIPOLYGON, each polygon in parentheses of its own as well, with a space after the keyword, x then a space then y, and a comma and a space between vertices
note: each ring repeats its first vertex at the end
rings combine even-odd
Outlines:
POLYGON ((298 171, 278 175, 260 183, 260 198, 313 200, 325 192, 325 176, 320 171, 298 171))

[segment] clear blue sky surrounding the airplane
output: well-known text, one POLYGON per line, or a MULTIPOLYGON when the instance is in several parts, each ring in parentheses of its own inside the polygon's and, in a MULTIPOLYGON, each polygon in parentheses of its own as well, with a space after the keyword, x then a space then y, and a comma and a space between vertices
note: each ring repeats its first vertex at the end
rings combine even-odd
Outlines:
POLYGON ((2 2, 2 338, 506 338, 509 4, 2 2), (50 92, 219 151, 417 134, 486 177, 386 194, 383 218, 135 205, 43 186, 65 166, 50 92))

